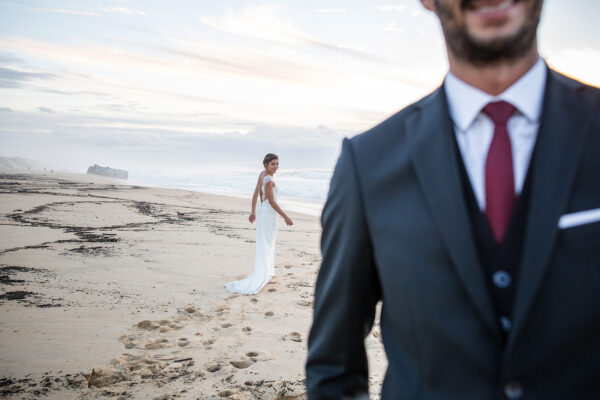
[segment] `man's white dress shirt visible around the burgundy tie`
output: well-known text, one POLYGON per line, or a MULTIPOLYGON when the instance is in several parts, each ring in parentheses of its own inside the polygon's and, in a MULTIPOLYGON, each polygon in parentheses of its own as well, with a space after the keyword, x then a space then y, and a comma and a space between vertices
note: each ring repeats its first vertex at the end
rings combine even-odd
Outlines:
POLYGON ((515 193, 520 194, 537 138, 546 87, 547 67, 540 58, 525 75, 498 96, 492 96, 448 72, 444 89, 450 118, 471 187, 479 208, 485 210, 485 160, 494 135, 494 123, 481 110, 504 100, 517 111, 507 124, 510 136, 515 193))

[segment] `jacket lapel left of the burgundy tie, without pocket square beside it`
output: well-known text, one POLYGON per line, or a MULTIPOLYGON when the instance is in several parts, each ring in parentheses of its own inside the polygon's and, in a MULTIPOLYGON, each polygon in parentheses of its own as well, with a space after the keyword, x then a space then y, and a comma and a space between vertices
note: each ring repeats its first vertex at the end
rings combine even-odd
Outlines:
POLYGON ((420 187, 475 308, 499 338, 495 311, 473 243, 443 86, 414 107, 418 110, 407 118, 405 129, 420 187))

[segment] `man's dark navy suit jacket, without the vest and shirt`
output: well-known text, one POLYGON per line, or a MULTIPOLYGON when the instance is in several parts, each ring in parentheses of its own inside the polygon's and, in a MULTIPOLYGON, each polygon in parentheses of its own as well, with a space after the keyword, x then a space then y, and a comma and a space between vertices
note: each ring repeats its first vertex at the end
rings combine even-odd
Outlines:
POLYGON ((384 399, 600 399, 600 91, 549 71, 513 327, 503 345, 443 87, 345 140, 322 224, 310 399, 366 398, 383 301, 384 399), (509 391, 506 392, 506 385, 509 391))

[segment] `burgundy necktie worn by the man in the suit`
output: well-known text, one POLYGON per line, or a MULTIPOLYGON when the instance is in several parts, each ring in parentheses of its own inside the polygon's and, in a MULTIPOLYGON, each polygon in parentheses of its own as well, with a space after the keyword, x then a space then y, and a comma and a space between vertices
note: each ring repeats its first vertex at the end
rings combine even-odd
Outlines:
POLYGON ((485 216, 497 243, 502 242, 515 204, 512 150, 506 124, 515 108, 505 102, 489 103, 483 112, 494 122, 494 137, 485 161, 485 216))

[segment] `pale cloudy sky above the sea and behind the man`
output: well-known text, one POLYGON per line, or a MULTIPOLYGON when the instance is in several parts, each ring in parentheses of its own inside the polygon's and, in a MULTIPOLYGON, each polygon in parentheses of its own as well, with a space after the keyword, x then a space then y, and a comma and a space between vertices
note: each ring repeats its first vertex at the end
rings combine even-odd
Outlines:
MULTIPOLYGON (((549 64, 595 85, 598 15, 597 0, 547 0, 540 29, 549 64)), ((0 156, 175 170, 278 152, 329 168, 341 137, 446 69, 418 0, 0 1, 0 156)))

